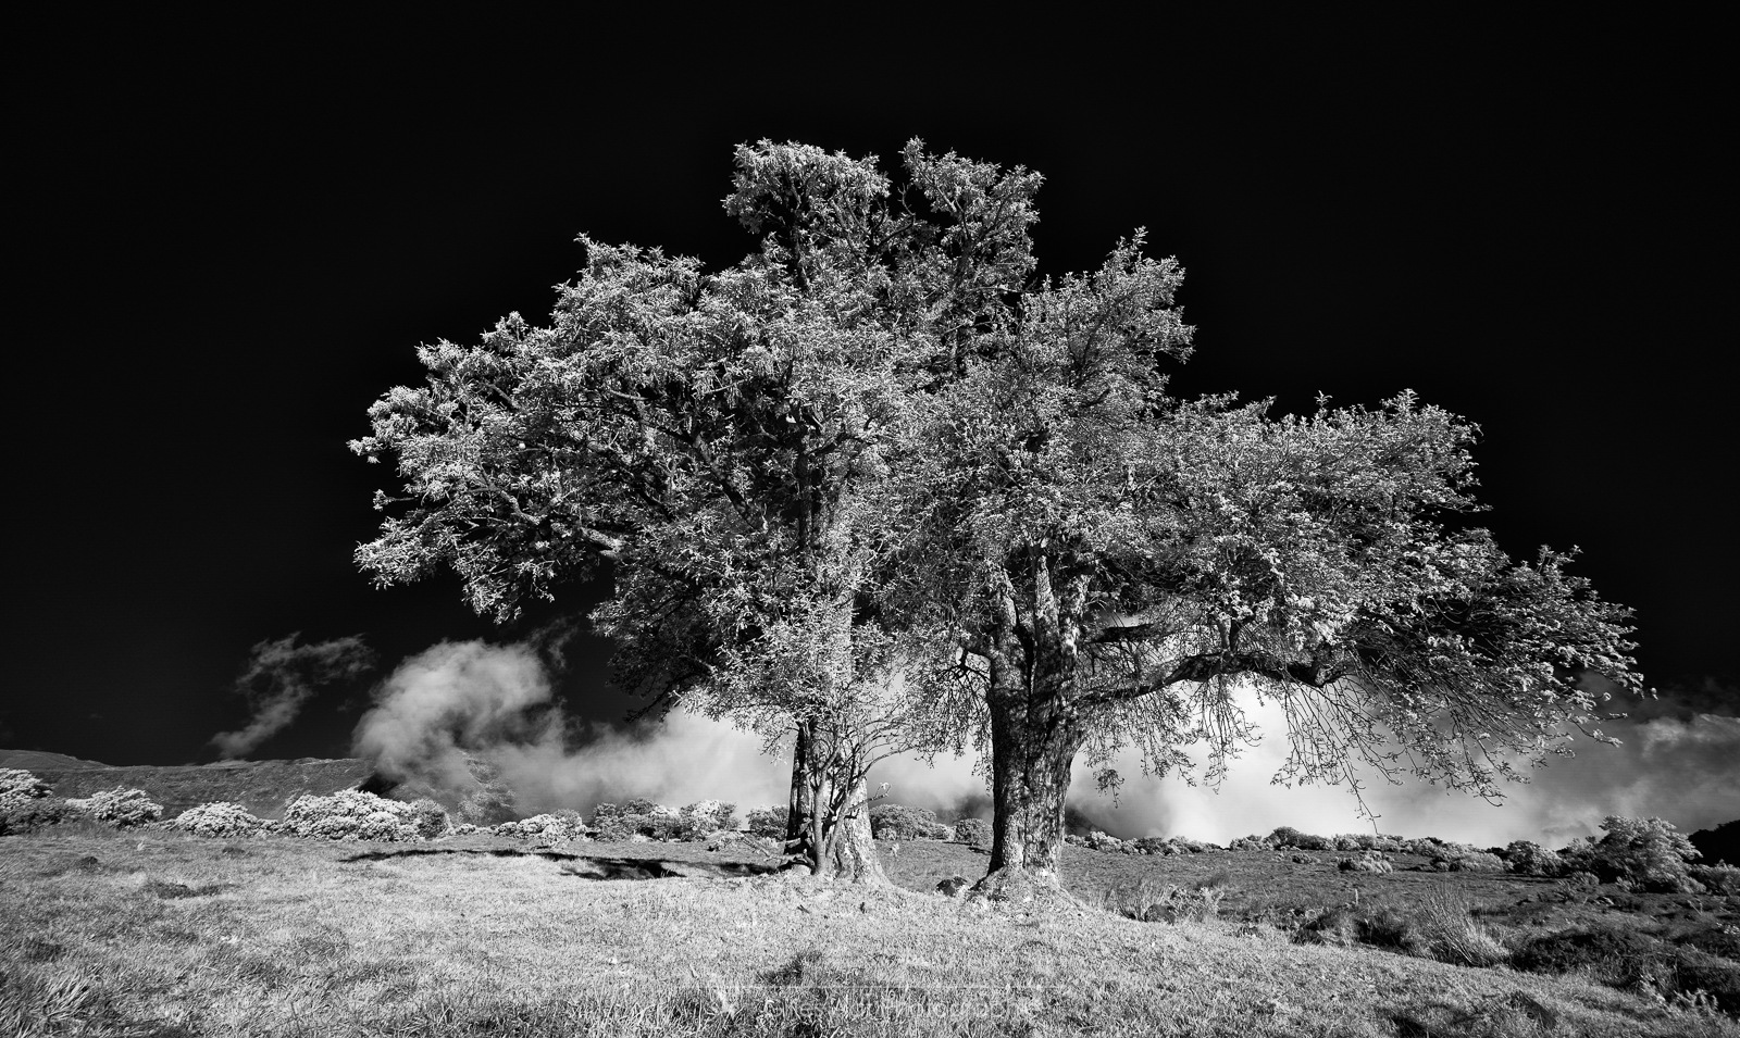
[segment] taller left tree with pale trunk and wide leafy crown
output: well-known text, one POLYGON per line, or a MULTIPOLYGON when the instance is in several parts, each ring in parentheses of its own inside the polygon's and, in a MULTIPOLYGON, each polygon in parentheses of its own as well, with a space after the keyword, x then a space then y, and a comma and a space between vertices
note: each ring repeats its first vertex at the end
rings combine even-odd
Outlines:
POLYGON ((886 454, 1000 325, 1039 184, 922 141, 903 158, 894 198, 870 160, 740 148, 726 209, 757 252, 705 275, 586 240, 550 327, 512 315, 419 349, 428 383, 386 393, 353 443, 398 456, 407 497, 378 508, 411 502, 358 548, 378 582, 451 567, 508 619, 609 574, 593 621, 619 682, 795 729, 793 836, 818 871, 870 880, 863 770, 938 737, 893 723, 903 649, 865 584, 893 532, 886 454))

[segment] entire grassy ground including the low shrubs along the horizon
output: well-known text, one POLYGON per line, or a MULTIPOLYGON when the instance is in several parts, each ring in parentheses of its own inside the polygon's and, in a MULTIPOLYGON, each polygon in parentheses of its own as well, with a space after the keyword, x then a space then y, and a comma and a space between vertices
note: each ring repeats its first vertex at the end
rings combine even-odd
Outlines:
POLYGON ((1656 821, 1563 852, 1089 833, 1037 909, 967 888, 981 821, 903 805, 896 887, 867 888, 776 871, 781 812, 726 838, 717 802, 478 828, 360 791, 85 800, 0 772, 5 817, 63 805, 0 843, 0 1033, 1740 1033, 1740 869, 1656 821))

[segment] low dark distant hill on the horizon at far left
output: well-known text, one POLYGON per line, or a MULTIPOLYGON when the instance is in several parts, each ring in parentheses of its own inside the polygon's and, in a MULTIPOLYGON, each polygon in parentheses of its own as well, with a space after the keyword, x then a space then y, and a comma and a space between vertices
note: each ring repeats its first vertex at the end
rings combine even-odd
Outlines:
POLYGON ((251 814, 275 819, 294 796, 329 796, 369 782, 364 760, 226 760, 207 765, 104 765, 61 753, 0 749, 0 767, 24 769, 54 788, 56 796, 90 796, 125 786, 144 789, 164 805, 164 817, 212 800, 240 803, 251 814))

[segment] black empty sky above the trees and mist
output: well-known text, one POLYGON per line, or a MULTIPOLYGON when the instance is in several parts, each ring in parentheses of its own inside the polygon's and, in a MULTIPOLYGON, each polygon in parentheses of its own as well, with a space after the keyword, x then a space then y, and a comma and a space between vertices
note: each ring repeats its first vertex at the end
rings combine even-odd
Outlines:
MULTIPOLYGON (((362 635, 393 662, 513 636, 452 577, 358 576, 390 469, 345 443, 421 379, 419 343, 543 320, 579 233, 736 261, 720 198, 760 137, 1035 169, 1051 273, 1145 226, 1188 271, 1178 388, 1467 416, 1502 544, 1580 546, 1651 682, 1740 683, 1714 26, 743 10, 9 33, 0 746, 212 760, 258 642, 362 635)), ((574 649, 576 715, 625 708, 602 657, 574 649)), ((259 755, 346 753, 364 694, 327 689, 259 755)))

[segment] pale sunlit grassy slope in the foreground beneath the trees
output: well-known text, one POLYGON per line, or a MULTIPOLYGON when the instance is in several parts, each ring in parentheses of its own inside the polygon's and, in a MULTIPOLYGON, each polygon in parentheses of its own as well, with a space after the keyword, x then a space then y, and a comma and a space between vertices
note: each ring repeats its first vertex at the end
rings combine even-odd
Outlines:
MULTIPOLYGON (((719 857, 646 843, 562 850, 689 859, 673 871, 696 875, 719 857)), ((936 873, 973 875, 974 861, 908 845, 889 864, 924 888, 936 873)), ((1072 854, 1077 888, 1091 864, 1072 854)), ((158 1038, 1735 1033, 1580 981, 1293 946, 1262 927, 1025 918, 901 887, 586 871, 491 840, 407 848, 94 828, 0 838, 0 1012, 35 1000, 42 1015, 59 996, 68 1021, 97 1021, 85 1033, 158 1038)))

